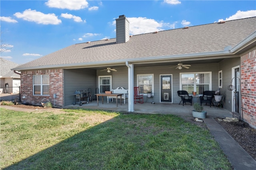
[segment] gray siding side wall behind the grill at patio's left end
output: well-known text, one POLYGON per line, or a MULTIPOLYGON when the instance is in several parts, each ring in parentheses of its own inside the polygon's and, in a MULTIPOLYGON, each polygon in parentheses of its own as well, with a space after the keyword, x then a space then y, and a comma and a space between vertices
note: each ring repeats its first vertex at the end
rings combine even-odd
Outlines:
MULTIPOLYGON (((76 90, 88 90, 88 88, 91 88, 92 94, 94 94, 96 87, 96 70, 64 70, 64 106, 74 102, 72 94, 76 90)), ((92 98, 95 98, 95 96, 92 95, 92 98)))

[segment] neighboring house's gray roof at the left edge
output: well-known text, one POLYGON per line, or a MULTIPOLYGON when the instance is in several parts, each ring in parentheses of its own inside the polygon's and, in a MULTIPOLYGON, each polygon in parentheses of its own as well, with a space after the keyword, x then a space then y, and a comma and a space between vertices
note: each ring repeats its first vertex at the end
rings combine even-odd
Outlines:
POLYGON ((17 67, 19 64, 0 58, 0 78, 20 78, 19 74, 14 73, 11 68, 17 67))

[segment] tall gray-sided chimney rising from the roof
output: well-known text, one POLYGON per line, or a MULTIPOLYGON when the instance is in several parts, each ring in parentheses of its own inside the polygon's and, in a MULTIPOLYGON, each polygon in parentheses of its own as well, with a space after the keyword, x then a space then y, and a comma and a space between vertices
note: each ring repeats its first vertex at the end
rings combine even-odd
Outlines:
POLYGON ((116 19, 116 43, 126 43, 130 39, 129 21, 124 15, 116 19))

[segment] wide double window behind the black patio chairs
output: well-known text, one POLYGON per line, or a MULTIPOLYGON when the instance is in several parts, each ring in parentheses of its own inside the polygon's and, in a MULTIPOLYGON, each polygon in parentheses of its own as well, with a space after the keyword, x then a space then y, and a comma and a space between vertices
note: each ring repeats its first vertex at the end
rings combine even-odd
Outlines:
POLYGON ((206 90, 212 90, 212 73, 180 73, 180 89, 186 90, 189 94, 203 94, 206 90))

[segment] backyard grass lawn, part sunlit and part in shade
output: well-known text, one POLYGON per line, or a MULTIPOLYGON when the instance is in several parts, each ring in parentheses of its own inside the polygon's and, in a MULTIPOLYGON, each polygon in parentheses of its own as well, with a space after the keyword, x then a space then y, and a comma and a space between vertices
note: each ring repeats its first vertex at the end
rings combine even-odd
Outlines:
POLYGON ((5 170, 230 170, 208 130, 174 115, 0 108, 5 170))

